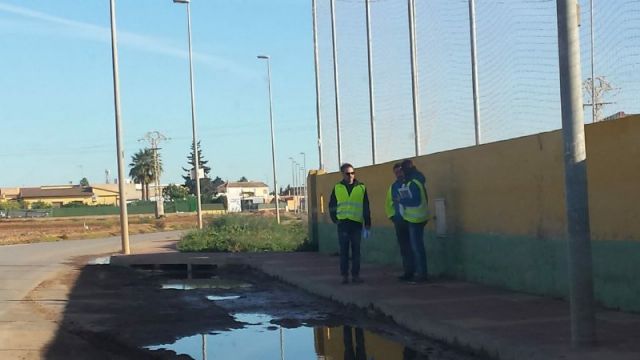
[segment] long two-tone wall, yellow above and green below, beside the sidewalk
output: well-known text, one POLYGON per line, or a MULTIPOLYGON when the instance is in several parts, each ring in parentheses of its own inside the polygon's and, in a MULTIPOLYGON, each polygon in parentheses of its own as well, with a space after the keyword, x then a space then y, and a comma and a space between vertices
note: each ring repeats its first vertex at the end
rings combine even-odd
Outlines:
MULTIPOLYGON (((586 137, 596 297, 608 307, 640 311, 640 116, 587 125, 586 137)), ((445 237, 435 235, 433 221, 427 226, 430 273, 566 296, 560 131, 413 160, 427 177, 432 214, 435 199, 444 199, 447 210, 445 237)), ((391 166, 356 169, 373 211, 374 235, 363 244, 365 261, 400 264, 384 215, 391 166)), ((327 204, 339 180, 339 173, 309 179, 315 185, 311 221, 317 221, 315 233, 325 253, 337 252, 327 204)))

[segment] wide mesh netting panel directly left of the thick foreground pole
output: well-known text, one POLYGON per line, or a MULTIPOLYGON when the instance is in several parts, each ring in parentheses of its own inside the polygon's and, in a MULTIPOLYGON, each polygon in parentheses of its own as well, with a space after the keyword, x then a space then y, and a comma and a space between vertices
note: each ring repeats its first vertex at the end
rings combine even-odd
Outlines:
POLYGON ((479 1, 477 34, 484 142, 559 129, 555 1, 479 1))

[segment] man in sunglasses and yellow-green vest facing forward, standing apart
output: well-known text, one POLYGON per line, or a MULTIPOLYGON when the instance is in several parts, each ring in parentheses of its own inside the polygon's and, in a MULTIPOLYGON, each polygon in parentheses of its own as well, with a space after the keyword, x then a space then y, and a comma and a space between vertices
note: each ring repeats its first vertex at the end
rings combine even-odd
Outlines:
POLYGON ((340 274, 342 283, 349 283, 349 249, 351 249, 351 281, 361 283, 360 278, 360 239, 362 226, 371 228, 369 197, 364 184, 356 180, 351 164, 340 166, 342 181, 331 192, 329 214, 331 221, 338 225, 340 242, 340 274))

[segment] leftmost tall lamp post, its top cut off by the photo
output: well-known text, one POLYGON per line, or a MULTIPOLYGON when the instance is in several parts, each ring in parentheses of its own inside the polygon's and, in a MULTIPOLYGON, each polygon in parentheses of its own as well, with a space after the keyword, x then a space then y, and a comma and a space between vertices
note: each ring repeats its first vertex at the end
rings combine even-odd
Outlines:
POLYGON ((120 197, 120 237, 122 253, 127 255, 129 248, 129 217, 127 215, 127 194, 125 192, 124 150, 122 149, 122 130, 120 121, 120 77, 118 76, 118 39, 116 36, 116 5, 110 1, 111 12, 111 55, 113 61, 113 98, 116 117, 116 148, 118 152, 118 193, 120 197))

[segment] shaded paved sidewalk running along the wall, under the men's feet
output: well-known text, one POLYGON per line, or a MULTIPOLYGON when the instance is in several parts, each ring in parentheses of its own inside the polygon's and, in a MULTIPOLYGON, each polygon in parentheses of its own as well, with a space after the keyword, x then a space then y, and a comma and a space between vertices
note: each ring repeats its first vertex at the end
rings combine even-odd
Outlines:
POLYGON ((364 264, 364 284, 341 285, 338 258, 317 253, 165 253, 114 256, 116 265, 246 264, 311 293, 375 309, 398 324, 499 359, 640 359, 640 315, 599 310, 599 343, 570 347, 569 306, 562 300, 460 281, 405 284, 397 269, 364 264))

